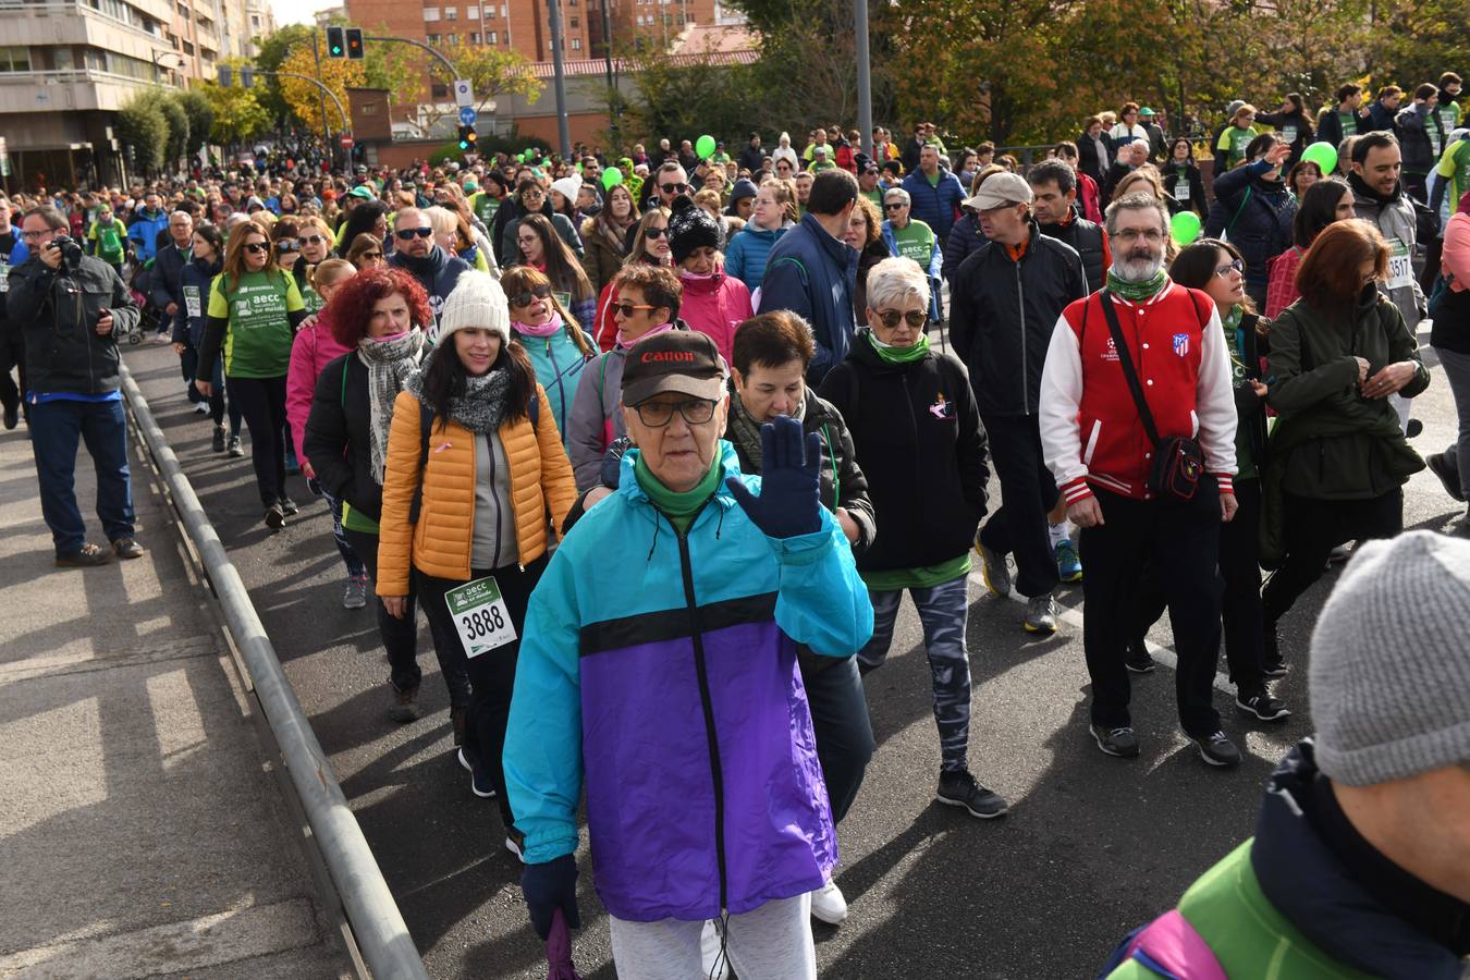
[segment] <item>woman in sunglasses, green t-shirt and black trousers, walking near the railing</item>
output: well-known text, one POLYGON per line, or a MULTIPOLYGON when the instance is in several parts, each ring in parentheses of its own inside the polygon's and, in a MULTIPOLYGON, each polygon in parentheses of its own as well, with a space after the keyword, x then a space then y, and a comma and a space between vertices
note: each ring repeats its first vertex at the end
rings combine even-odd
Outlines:
POLYGON ((210 394, 215 359, 223 351, 229 397, 250 428, 256 486, 272 529, 297 513, 285 495, 285 375, 291 339, 304 319, 301 291, 276 264, 265 232, 253 223, 235 228, 225 267, 209 289, 194 386, 210 394))

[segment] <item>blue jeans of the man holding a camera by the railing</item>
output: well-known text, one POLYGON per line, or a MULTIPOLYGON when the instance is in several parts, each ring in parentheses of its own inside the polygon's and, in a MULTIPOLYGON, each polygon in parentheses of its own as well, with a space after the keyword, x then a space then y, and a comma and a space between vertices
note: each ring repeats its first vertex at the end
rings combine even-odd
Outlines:
POLYGON ((97 470, 97 519, 107 541, 132 536, 132 485, 128 475, 128 426, 122 401, 43 401, 31 406, 31 450, 41 483, 41 514, 56 554, 87 544, 76 508, 76 445, 87 444, 97 470))

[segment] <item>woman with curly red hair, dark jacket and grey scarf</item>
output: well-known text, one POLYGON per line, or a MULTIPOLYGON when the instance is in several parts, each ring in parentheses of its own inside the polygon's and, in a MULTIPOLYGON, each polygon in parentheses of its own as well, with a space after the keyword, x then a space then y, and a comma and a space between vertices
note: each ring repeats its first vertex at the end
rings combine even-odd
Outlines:
MULTIPOLYGON (((343 533, 376 582, 392 403, 419 369, 425 329, 434 323, 434 313, 413 276, 401 269, 376 267, 347 279, 320 316, 348 353, 329 361, 316 379, 303 448, 322 491, 343 501, 343 533)), ((394 721, 419 717, 423 674, 413 598, 410 586, 409 614, 403 619, 390 616, 382 599, 375 599, 392 689, 388 717, 394 721)), ((450 689, 451 717, 462 716, 469 707, 469 676, 463 667, 454 670, 442 663, 440 667, 450 689)))

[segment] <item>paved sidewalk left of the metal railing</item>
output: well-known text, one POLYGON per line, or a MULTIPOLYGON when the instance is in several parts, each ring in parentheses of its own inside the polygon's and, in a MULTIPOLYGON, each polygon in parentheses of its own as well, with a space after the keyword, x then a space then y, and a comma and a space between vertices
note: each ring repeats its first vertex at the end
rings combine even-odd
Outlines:
MULTIPOLYGON (((209 594, 132 454, 144 558, 53 566, 0 432, 0 977, 347 977, 209 594)), ((91 458, 76 498, 91 541, 91 458)))

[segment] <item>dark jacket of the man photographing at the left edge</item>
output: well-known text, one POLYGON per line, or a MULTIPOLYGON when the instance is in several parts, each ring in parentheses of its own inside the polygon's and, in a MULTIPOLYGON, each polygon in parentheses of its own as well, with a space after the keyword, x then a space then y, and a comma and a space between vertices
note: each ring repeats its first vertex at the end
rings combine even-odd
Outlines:
POLYGON ((6 322, 25 338, 25 382, 38 394, 101 395, 118 391, 118 338, 138 326, 140 311, 116 270, 82 256, 76 269, 51 269, 32 253, 12 266, 6 322), (112 313, 112 334, 97 320, 112 313))

